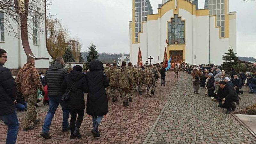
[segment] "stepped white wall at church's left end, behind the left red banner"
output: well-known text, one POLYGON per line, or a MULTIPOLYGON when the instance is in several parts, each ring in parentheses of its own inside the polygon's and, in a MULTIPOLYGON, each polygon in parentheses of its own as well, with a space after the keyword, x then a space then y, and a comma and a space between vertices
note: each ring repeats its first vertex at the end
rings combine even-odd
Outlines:
POLYGON ((142 56, 142 61, 143 64, 146 63, 148 57, 147 57, 147 49, 148 49, 148 33, 147 33, 147 22, 142 22, 142 28, 143 31, 142 33, 139 33, 140 35, 140 43, 136 43, 136 44, 132 44, 132 57, 130 55, 130 59, 132 62, 132 64, 136 64, 138 62, 138 54, 139 54, 139 47, 140 47, 140 51, 141 51, 141 56, 142 56))

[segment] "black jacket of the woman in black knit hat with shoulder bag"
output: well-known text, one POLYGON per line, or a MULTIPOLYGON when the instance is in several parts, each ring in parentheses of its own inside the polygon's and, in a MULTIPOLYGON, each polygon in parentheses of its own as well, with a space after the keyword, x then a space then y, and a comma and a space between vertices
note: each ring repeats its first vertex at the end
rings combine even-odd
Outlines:
POLYGON ((65 91, 69 91, 69 99, 64 102, 64 109, 81 111, 85 109, 84 92, 88 92, 85 76, 82 72, 72 70, 61 84, 65 91), (71 88, 72 84, 73 87, 71 88))

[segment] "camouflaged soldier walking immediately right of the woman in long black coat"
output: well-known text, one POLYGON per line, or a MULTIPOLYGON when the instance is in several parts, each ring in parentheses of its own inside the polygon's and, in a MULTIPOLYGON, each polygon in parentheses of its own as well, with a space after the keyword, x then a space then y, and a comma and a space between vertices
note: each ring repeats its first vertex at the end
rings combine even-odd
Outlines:
POLYGON ((109 81, 108 94, 112 98, 112 102, 118 102, 117 97, 119 95, 119 84, 117 81, 117 72, 116 63, 113 63, 113 66, 110 68, 109 73, 106 74, 109 81))

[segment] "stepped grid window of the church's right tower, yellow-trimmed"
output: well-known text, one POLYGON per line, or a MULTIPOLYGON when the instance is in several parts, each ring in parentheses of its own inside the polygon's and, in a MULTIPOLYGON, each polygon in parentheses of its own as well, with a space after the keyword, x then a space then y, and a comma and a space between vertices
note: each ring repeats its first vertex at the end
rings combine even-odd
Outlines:
POLYGON ((217 16, 217 27, 220 27, 220 37, 225 37, 225 0, 209 0, 209 15, 217 16))

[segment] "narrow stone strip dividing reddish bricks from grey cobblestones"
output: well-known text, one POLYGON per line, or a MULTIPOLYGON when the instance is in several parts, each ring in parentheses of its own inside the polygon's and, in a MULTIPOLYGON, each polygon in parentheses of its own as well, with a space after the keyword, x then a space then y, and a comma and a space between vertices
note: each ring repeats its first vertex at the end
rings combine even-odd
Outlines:
MULTIPOLYGON (((182 73, 180 74, 180 77, 181 77, 181 75, 182 75, 182 73)), ((172 98, 172 95, 173 95, 174 91, 176 90, 177 85, 179 84, 180 77, 179 77, 179 80, 178 80, 178 82, 177 82, 175 88, 174 88, 173 91, 172 91, 171 96, 169 97, 169 99, 168 99, 167 102, 165 103, 164 108, 163 108, 162 111, 160 112, 160 114, 159 114, 159 116, 157 117, 155 123, 153 124, 152 128, 151 128, 150 131, 148 132, 147 137, 146 137, 145 140, 143 141, 143 144, 147 144, 147 143, 148 143, 150 137, 152 136, 153 132, 155 131, 156 125, 158 124, 160 118, 163 116, 163 113, 164 113, 164 111, 165 111, 165 108, 167 107, 168 103, 170 102, 170 100, 171 100, 171 98, 172 98)))

